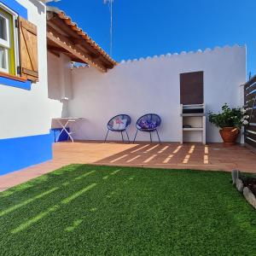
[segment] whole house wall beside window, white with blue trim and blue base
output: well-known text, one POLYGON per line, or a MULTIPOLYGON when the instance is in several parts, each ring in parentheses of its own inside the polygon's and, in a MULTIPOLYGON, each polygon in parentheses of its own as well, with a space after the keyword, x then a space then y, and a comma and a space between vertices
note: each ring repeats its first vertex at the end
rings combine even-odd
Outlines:
POLYGON ((35 84, 0 77, 0 175, 52 158, 53 108, 48 98, 45 4, 38 0, 2 2, 37 26, 39 77, 35 84))

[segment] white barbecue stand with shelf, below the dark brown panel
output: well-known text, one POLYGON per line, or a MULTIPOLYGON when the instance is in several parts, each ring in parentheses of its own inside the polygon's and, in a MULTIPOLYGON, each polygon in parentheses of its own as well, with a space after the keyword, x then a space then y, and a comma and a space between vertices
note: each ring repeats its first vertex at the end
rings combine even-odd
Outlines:
POLYGON ((206 144, 205 104, 183 105, 180 107, 181 142, 206 144))

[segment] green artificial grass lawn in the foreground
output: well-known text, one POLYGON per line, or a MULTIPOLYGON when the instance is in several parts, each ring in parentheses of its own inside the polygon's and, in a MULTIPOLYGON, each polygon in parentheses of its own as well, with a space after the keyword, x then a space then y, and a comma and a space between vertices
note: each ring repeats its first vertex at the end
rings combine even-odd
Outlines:
POLYGON ((0 193, 1 255, 255 255, 227 172, 66 166, 0 193))

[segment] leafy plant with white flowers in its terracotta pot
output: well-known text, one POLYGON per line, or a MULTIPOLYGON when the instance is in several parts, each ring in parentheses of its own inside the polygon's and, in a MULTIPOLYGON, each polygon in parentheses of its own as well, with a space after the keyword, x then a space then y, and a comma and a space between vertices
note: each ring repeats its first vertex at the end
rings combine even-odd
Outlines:
POLYGON ((241 126, 248 125, 249 116, 244 108, 230 108, 227 103, 220 113, 209 112, 209 121, 221 128, 219 130, 224 144, 233 145, 240 133, 241 126))

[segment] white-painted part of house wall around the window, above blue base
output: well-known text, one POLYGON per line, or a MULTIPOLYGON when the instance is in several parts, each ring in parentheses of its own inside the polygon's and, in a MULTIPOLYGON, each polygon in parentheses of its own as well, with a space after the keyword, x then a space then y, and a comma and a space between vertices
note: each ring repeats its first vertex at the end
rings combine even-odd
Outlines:
POLYGON ((34 0, 17 2, 27 9, 28 20, 38 26, 39 82, 32 84, 32 90, 0 84, 0 138, 47 134, 50 128, 45 6, 34 0))

